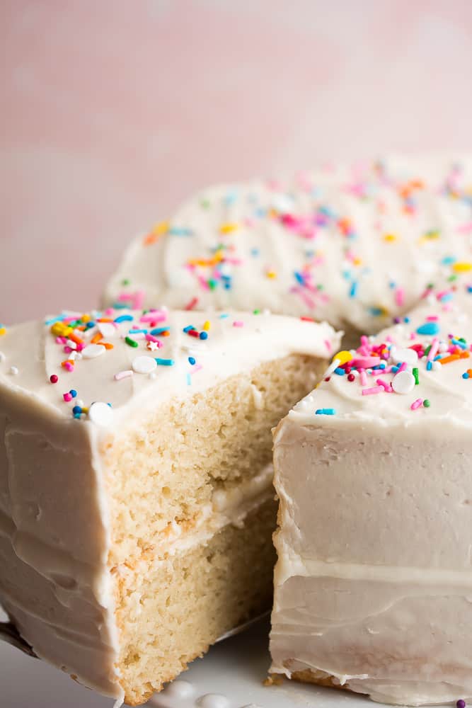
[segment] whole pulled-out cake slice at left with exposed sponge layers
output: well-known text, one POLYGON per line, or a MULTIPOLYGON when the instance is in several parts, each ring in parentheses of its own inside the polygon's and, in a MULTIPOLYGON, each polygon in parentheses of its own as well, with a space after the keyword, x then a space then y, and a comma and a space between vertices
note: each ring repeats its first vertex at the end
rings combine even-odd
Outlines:
POLYGON ((139 704, 270 607, 270 428, 339 337, 110 309, 0 344, 0 602, 38 656, 139 704))

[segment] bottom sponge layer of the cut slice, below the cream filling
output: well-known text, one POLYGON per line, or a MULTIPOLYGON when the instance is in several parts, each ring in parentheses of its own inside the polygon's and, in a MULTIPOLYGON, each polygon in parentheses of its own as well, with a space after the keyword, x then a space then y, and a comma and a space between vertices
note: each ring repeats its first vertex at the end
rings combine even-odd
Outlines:
POLYGON ((118 580, 118 669, 128 704, 144 702, 221 634, 270 608, 275 513, 270 493, 242 527, 226 525, 159 561, 134 588, 126 581, 120 590, 118 580))

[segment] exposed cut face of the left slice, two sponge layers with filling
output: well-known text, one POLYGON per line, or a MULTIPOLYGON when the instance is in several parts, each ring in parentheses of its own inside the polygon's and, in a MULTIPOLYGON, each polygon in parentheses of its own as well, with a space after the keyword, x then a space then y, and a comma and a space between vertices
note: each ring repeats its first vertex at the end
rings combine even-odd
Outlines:
POLYGON ((137 704, 218 636, 269 609, 270 429, 324 364, 289 355, 174 399, 100 450, 120 682, 137 704))

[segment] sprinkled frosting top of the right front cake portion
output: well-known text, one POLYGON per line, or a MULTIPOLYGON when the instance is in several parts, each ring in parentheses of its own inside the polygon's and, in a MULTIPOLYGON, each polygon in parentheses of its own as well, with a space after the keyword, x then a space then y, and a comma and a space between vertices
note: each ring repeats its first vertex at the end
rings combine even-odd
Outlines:
POLYGON ((472 285, 431 290, 408 316, 335 354, 289 416, 301 425, 472 422, 472 285), (470 379, 470 380, 469 380, 470 379))

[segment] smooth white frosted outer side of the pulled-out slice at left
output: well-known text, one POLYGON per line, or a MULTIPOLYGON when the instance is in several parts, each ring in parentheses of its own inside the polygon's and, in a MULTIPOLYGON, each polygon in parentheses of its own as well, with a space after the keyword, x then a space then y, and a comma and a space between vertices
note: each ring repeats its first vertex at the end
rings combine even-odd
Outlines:
POLYGON ((120 699, 108 505, 75 423, 0 380, 0 602, 37 656, 120 699))

